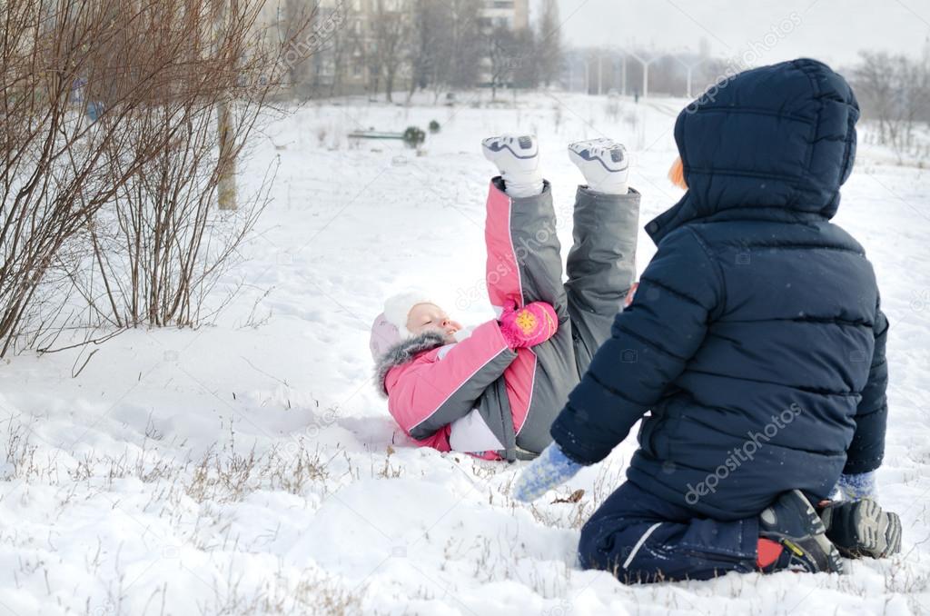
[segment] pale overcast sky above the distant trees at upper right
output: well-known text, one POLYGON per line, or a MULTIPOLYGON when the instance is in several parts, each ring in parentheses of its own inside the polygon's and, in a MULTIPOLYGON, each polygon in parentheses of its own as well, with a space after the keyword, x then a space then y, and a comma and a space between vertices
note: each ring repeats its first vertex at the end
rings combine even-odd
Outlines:
POLYGON ((573 46, 697 50, 704 38, 711 55, 752 50, 754 64, 808 56, 839 66, 859 49, 916 57, 930 34, 930 0, 559 0, 559 10, 573 46))

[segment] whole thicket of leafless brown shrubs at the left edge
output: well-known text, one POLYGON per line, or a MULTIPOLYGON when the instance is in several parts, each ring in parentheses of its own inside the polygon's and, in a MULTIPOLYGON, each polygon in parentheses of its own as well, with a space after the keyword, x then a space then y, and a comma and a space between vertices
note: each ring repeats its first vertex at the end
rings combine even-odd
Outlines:
MULTIPOLYGON (((206 206, 285 66, 286 44, 256 35, 262 4, 219 20, 196 0, 0 3, 0 355, 87 306, 115 327, 193 324, 200 273, 237 237, 208 233, 206 206)), ((228 220, 246 229, 255 209, 228 220)))

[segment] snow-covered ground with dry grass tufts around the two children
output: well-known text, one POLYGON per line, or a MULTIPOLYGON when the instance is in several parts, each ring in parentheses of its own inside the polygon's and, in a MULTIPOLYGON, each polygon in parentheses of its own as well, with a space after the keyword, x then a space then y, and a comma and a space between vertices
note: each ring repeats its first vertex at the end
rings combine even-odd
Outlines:
MULTIPOLYGON (((579 181, 565 144, 625 141, 647 221, 680 195, 665 173, 686 101, 486 102, 346 100, 272 123, 242 180, 280 157, 274 200, 215 325, 128 331, 86 366, 95 349, 0 366, 0 614, 930 613, 930 172, 864 145, 837 217, 892 324, 879 476, 901 555, 844 576, 623 586, 578 570, 575 547, 634 439, 559 490, 584 489, 578 502, 513 502, 519 464, 409 446, 371 385, 368 328, 411 284, 463 322, 492 317, 483 136, 538 133, 565 255, 579 181), (432 119, 422 155, 346 137, 432 119)), ((642 234, 641 269, 653 251, 642 234)))

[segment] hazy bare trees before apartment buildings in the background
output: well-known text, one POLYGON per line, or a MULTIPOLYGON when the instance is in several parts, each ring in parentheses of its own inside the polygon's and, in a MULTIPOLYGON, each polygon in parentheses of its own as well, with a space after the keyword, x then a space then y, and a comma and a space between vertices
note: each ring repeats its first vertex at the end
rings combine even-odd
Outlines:
MULTIPOLYGON (((305 3, 289 0, 285 23, 305 3)), ((484 0, 365 0, 319 8, 314 45, 298 45, 289 94, 298 99, 418 91, 438 100, 471 87, 537 87, 562 70, 559 10, 544 0, 528 28, 485 17, 484 0)))

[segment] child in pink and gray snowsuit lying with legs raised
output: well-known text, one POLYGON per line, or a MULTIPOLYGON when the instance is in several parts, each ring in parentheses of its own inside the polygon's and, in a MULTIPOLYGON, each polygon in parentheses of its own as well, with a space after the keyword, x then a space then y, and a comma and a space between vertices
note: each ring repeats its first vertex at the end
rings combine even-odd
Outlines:
POLYGON ((484 141, 500 176, 487 196, 488 296, 497 318, 466 331, 416 291, 385 302, 372 328, 376 386, 407 435, 488 460, 535 458, 591 355, 610 335, 635 274, 639 194, 623 146, 581 141, 588 185, 574 208, 567 282, 551 186, 533 137, 484 141))

